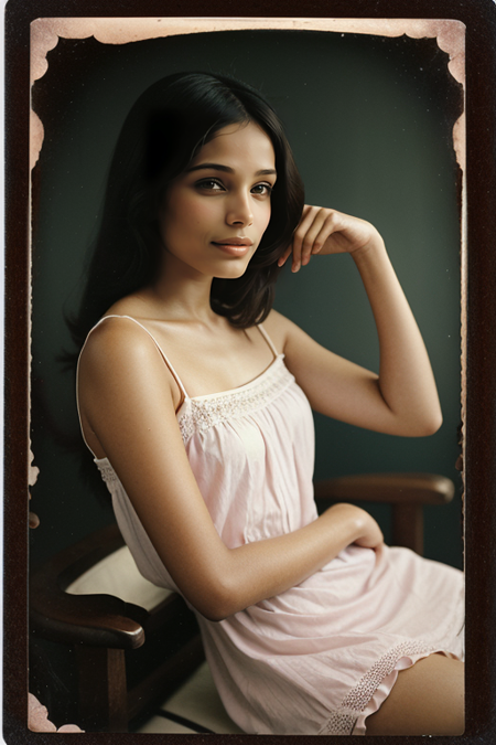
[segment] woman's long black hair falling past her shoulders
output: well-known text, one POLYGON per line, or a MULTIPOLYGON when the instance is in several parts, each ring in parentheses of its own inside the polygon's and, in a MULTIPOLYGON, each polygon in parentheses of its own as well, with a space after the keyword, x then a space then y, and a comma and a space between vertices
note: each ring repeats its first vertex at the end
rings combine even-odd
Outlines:
POLYGON ((292 238, 304 202, 282 124, 270 104, 244 83, 222 75, 177 73, 151 85, 122 126, 80 308, 68 320, 78 349, 114 302, 158 276, 163 248, 158 215, 171 181, 219 129, 249 121, 265 130, 276 153, 271 217, 245 274, 236 279, 214 278, 211 305, 237 328, 249 328, 267 317, 279 274, 277 262, 292 238))

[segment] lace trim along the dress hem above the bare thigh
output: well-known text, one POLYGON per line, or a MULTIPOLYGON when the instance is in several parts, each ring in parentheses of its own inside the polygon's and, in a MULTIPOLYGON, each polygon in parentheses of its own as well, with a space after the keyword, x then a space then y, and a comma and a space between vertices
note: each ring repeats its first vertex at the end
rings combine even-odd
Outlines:
POLYGON ((368 702, 380 685, 381 681, 395 669, 401 657, 407 654, 431 653, 439 646, 425 645, 421 641, 403 641, 389 650, 387 654, 377 660, 362 680, 353 688, 343 700, 339 709, 333 712, 319 733, 320 735, 351 735, 358 715, 366 709, 368 702))

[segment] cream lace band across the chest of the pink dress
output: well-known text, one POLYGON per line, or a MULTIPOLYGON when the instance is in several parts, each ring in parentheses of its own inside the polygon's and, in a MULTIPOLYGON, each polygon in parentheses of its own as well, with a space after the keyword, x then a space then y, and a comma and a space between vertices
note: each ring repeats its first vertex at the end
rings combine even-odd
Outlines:
POLYGON ((293 381, 282 356, 279 356, 265 373, 240 389, 186 398, 177 414, 183 440, 188 440, 195 432, 206 432, 216 424, 262 408, 293 381))

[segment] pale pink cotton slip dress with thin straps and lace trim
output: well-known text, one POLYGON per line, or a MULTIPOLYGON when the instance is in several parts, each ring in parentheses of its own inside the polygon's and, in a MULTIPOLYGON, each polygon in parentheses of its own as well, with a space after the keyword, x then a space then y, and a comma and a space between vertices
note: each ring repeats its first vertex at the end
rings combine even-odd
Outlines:
MULTIPOLYGON (((196 397, 152 337, 182 391, 184 447, 228 547, 289 533, 317 517, 310 404, 283 354, 258 328, 273 352, 271 365, 246 385, 196 397)), ((111 464, 95 462, 140 573, 179 592, 111 464)), ((219 622, 196 617, 220 698, 241 730, 365 734, 366 717, 399 670, 436 651, 463 659, 463 574, 408 549, 376 554, 349 545, 276 597, 219 622)))

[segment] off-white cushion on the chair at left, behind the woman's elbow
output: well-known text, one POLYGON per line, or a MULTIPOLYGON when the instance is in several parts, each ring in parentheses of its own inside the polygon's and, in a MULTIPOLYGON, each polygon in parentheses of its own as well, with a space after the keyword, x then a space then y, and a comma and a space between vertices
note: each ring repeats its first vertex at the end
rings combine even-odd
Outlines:
POLYGON ((141 576, 128 546, 118 549, 91 566, 66 592, 69 595, 115 595, 147 610, 154 608, 171 593, 141 576))

